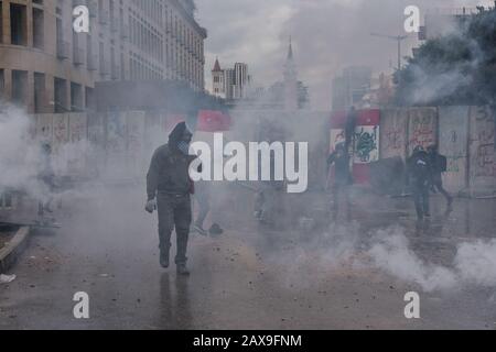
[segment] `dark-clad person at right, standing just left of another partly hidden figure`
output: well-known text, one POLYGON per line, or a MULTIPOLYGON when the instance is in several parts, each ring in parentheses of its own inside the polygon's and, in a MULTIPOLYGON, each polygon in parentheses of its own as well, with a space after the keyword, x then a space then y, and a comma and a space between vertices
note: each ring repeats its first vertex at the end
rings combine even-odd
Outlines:
POLYGON ((416 146, 412 155, 407 161, 408 179, 413 194, 417 217, 423 220, 430 218, 429 187, 431 178, 431 165, 429 156, 421 145, 416 146))

